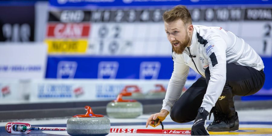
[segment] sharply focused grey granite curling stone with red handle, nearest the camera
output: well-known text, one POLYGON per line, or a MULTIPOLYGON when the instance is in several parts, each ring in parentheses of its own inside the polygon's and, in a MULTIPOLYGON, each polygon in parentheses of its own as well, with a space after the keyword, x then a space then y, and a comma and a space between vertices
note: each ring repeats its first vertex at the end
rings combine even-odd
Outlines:
POLYGON ((111 123, 103 115, 94 114, 85 106, 86 114, 74 115, 67 120, 67 133, 72 136, 105 136, 110 133, 111 123))

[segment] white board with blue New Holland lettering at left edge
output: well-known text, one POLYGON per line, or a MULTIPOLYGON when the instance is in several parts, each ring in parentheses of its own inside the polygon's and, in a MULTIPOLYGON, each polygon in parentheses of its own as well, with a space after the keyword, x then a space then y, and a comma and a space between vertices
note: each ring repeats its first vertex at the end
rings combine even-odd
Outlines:
POLYGON ((44 78, 46 50, 47 46, 43 43, 2 44, 0 46, 0 79, 44 78))

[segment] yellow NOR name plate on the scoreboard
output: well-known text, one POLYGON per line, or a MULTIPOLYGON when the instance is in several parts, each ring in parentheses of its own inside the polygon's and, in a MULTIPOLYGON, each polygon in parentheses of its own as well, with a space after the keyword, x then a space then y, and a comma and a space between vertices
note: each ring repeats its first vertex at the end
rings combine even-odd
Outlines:
POLYGON ((48 45, 48 53, 86 53, 88 46, 88 40, 85 39, 47 39, 45 42, 48 45))

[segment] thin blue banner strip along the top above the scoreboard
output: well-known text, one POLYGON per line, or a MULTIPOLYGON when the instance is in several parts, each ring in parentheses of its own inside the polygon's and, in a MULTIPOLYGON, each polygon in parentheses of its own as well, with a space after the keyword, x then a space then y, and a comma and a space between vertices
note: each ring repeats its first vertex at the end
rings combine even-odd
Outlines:
POLYGON ((272 0, 50 0, 51 6, 158 6, 158 5, 249 5, 272 4, 272 0))

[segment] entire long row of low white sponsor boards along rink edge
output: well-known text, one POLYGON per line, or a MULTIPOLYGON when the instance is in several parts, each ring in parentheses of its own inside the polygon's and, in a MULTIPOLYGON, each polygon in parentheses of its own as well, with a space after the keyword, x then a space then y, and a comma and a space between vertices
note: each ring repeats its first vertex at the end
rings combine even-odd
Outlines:
MULTIPOLYGON (((0 102, 16 104, 113 100, 125 86, 138 86, 142 93, 147 94, 156 89, 157 84, 166 89, 168 82, 169 80, 138 79, 40 79, 26 83, 1 80, 0 102), (28 99, 25 99, 26 96, 28 99)), ((190 84, 190 81, 186 82, 186 86, 190 84)))

